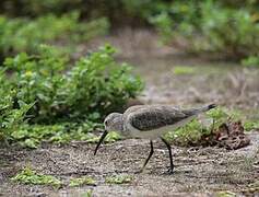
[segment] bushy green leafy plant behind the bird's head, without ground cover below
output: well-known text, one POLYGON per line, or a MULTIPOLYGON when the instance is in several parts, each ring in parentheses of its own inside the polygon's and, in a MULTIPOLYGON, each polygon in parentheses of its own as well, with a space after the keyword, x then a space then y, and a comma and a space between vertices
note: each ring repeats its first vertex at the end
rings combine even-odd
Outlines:
POLYGON ((12 71, 12 84, 19 86, 15 96, 26 103, 36 102, 28 112, 31 121, 99 119, 142 90, 129 66, 114 60, 114 53, 110 46, 102 47, 64 72, 68 57, 43 46, 38 56, 7 58, 4 67, 12 71))

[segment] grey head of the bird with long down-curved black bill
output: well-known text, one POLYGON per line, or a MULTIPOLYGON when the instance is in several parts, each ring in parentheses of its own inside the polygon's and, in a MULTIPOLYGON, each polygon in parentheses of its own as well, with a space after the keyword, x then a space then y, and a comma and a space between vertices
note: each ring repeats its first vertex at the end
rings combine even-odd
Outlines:
POLYGON ((122 131, 123 130, 123 121, 122 121, 122 114, 119 113, 111 113, 109 114, 104 120, 104 134, 99 138, 99 141, 95 148, 94 155, 96 154, 98 147, 104 141, 105 137, 108 135, 109 131, 122 131))

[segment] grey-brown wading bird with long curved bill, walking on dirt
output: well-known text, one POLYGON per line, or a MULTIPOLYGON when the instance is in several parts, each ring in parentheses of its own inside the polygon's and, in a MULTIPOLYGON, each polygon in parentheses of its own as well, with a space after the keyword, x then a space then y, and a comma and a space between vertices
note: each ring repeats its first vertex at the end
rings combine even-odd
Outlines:
POLYGON ((111 130, 119 131, 126 138, 146 138, 150 139, 151 151, 143 164, 143 171, 154 152, 152 140, 161 138, 168 149, 170 161, 169 172, 173 173, 174 163, 170 144, 162 136, 166 131, 184 126, 198 114, 214 107, 216 107, 215 104, 191 109, 178 109, 170 105, 138 105, 129 107, 123 114, 111 113, 104 120, 105 131, 96 146, 94 155, 102 141, 111 130))

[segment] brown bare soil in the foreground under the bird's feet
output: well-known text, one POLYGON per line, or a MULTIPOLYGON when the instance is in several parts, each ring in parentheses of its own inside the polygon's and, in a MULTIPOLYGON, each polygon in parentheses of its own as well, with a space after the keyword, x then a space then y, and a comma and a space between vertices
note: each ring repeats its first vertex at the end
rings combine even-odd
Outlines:
MULTIPOLYGON (((96 157, 93 155, 95 146, 84 142, 63 147, 45 146, 33 151, 1 149, 0 194, 80 196, 89 189, 93 190, 94 196, 184 196, 189 193, 205 196, 220 190, 247 194, 251 189, 249 185, 259 177, 259 135, 251 134, 249 137, 251 144, 235 151, 173 147, 176 165, 174 174, 167 173, 167 150, 161 141, 154 143, 154 155, 143 173, 139 173, 139 170, 150 151, 148 140, 129 139, 105 144, 96 157), (55 175, 66 185, 55 190, 51 187, 11 183, 9 177, 25 165, 37 172, 55 175), (106 184, 105 177, 115 174, 132 175, 133 181, 122 185, 106 184), (94 177, 96 186, 68 186, 69 178, 82 175, 94 177)), ((259 195, 259 190, 255 193, 259 195)))

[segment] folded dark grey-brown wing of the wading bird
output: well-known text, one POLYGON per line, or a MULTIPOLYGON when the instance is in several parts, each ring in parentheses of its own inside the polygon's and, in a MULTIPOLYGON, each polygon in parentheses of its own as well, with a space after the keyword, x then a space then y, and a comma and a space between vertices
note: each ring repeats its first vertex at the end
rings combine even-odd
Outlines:
POLYGON ((128 117, 136 129, 146 131, 177 124, 190 115, 172 106, 145 106, 136 108, 128 117))

